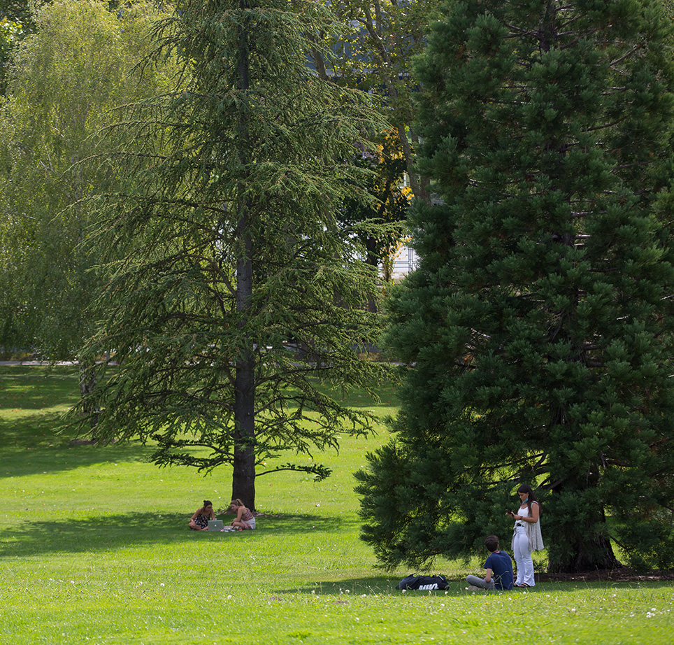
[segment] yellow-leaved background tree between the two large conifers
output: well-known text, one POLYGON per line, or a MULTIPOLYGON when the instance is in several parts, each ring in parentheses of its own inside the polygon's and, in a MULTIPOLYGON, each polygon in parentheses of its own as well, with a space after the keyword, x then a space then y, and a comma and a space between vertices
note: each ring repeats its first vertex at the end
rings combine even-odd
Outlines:
POLYGON ((412 60, 424 45, 424 29, 437 2, 413 0, 347 0, 332 6, 341 22, 337 34, 322 34, 320 41, 330 48, 325 56, 313 48, 315 67, 325 80, 370 92, 381 97, 382 116, 387 129, 381 133, 378 159, 369 162, 377 178, 371 180, 375 205, 363 208, 348 201, 340 219, 347 225, 361 220, 377 220, 361 237, 368 261, 382 265, 385 280, 390 277, 394 255, 404 236, 408 197, 429 201, 428 181, 415 168, 415 146, 419 139, 413 128, 413 94, 419 90, 412 60))

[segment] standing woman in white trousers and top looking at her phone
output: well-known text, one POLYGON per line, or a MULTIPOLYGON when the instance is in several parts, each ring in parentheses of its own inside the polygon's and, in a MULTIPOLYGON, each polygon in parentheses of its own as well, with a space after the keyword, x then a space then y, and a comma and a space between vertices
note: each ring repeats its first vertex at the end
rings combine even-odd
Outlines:
POLYGON ((540 534, 540 504, 533 494, 531 486, 522 484, 517 489, 522 504, 517 513, 506 511, 515 518, 515 531, 512 533, 512 552, 517 562, 516 587, 533 587, 533 560, 531 551, 543 549, 543 536, 540 534))

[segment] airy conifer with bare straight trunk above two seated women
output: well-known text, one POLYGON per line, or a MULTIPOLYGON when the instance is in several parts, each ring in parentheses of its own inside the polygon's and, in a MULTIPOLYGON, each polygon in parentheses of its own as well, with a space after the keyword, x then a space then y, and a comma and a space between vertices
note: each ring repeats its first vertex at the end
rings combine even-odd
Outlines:
POLYGON ((382 373, 357 355, 376 332, 373 271, 334 213, 357 143, 383 124, 370 97, 306 66, 308 34, 329 29, 322 3, 181 3, 155 58, 175 51, 187 85, 129 115, 134 192, 101 200, 99 244, 126 255, 86 353, 121 363, 92 397, 99 432, 152 437, 159 465, 232 465, 250 508, 256 465, 368 429, 324 381, 382 373))

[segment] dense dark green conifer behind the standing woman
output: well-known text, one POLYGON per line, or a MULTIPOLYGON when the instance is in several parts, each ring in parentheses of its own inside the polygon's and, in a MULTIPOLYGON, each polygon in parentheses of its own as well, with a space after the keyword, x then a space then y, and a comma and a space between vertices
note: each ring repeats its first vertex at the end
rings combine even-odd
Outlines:
POLYGON ((385 565, 505 538, 538 486, 552 571, 671 566, 671 24, 657 3, 452 1, 420 61, 414 363, 359 473, 385 565))

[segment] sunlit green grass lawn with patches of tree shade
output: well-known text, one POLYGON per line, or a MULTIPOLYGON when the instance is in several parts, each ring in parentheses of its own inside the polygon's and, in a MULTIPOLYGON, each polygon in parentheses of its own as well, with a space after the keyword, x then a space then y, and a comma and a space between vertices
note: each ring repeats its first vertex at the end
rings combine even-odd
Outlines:
MULTIPOLYGON (((159 470, 137 444, 72 445, 55 430, 77 394, 72 369, 0 368, 2 644, 674 641, 668 583, 471 594, 473 567, 438 561, 447 593, 396 591, 408 570, 376 568, 353 492, 383 427, 315 455, 334 469, 325 481, 261 477, 258 530, 208 534, 187 519, 206 497, 227 506, 231 472, 159 470)), ((351 401, 382 416, 396 405, 393 390, 351 401)))

